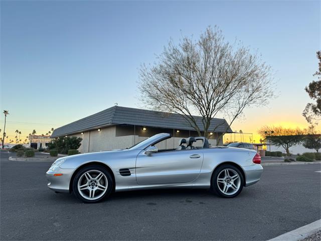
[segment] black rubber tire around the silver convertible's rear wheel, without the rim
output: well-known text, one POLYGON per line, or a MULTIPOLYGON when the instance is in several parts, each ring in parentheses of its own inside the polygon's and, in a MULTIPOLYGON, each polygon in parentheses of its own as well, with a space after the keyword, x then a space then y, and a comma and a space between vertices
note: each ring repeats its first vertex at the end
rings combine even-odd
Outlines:
MULTIPOLYGON (((227 178, 227 179, 230 179, 230 178, 227 178)), ((234 182, 233 182, 233 184, 234 184, 234 182)), ((244 177, 243 177, 241 171, 238 168, 236 168, 235 166, 232 166, 230 164, 225 164, 225 165, 222 165, 222 166, 220 166, 220 167, 218 167, 217 169, 214 170, 214 173, 213 173, 212 178, 211 178, 211 190, 215 194, 219 195, 220 197, 225 197, 225 198, 236 197, 242 191, 243 186, 244 186, 244 177), (228 191, 230 191, 230 189, 231 189, 231 194, 229 194, 229 195, 227 195, 226 193, 224 193, 221 190, 222 188, 224 189, 224 185, 227 183, 227 180, 225 181, 224 184, 223 183, 218 183, 219 175, 220 175, 220 179, 222 179, 221 178, 222 174, 223 174, 224 170, 227 170, 227 169, 229 170, 228 173, 231 173, 231 175, 237 173, 238 176, 239 176, 239 182, 237 183, 238 185, 236 185, 238 187, 238 190, 235 192, 235 190, 232 187, 229 187, 228 191), (233 193, 233 192, 235 192, 235 193, 233 193)))

